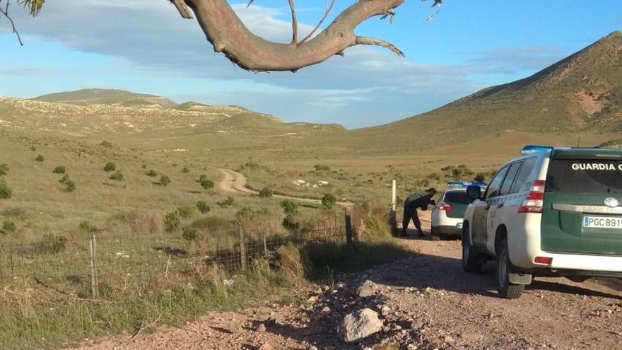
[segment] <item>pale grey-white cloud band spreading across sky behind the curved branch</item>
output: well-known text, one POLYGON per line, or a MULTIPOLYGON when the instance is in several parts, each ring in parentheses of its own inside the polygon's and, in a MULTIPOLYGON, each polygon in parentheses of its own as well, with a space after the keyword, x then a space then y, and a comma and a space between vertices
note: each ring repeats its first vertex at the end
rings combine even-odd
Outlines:
MULTIPOLYGON (((257 35, 290 40, 288 8, 233 7, 257 35)), ((475 91, 479 86, 469 80, 471 74, 499 72, 498 68, 491 71, 483 56, 468 65, 418 64, 389 51, 353 47, 345 57, 333 57, 296 74, 251 74, 214 53, 196 21, 180 18, 165 0, 57 0, 49 1, 35 19, 17 8, 13 16, 27 45, 29 40, 44 40, 119 57, 136 74, 192 78, 192 86, 175 91, 172 98, 237 103, 290 120, 329 116, 335 118, 333 122, 351 126, 387 122, 386 116, 413 115, 475 91), (237 83, 240 88, 219 91, 215 87, 219 83, 237 83)), ((312 27, 302 23, 300 36, 312 27)), ((0 26, 2 30, 7 28, 0 26)), ((496 57, 509 56, 496 53, 496 57)), ((512 64, 503 69, 511 69, 512 64)), ((123 84, 119 81, 120 87, 123 84)))

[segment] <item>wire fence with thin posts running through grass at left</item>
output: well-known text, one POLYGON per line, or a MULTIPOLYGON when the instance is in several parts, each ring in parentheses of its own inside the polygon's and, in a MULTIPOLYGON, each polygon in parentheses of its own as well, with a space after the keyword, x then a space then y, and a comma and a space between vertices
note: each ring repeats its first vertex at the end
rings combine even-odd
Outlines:
POLYGON ((245 272, 283 245, 351 241, 357 220, 360 214, 335 212, 289 229, 282 221, 239 221, 189 234, 47 234, 32 243, 0 244, 0 287, 39 284, 81 298, 192 288, 215 269, 245 272))

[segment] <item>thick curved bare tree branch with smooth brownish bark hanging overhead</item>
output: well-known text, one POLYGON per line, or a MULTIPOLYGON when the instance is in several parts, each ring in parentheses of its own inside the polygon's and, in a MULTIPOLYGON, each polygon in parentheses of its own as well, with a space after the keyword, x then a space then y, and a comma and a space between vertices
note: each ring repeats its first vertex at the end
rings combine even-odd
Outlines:
POLYGON ((404 0, 358 0, 346 8, 317 36, 302 44, 269 42, 254 35, 240 21, 226 0, 170 0, 184 18, 192 18, 192 8, 207 40, 216 52, 250 71, 297 71, 324 62, 355 45, 380 45, 403 56, 384 40, 357 37, 356 27, 373 16, 391 14, 404 0))

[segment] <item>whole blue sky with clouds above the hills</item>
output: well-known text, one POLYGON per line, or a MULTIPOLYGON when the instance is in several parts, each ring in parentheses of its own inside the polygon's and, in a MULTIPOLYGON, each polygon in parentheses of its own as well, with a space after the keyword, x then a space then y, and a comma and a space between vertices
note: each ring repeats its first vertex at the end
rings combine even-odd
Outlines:
MULTIPOLYGON (((333 15, 352 2, 336 0, 333 15)), ((34 19, 13 6, 23 47, 0 21, 0 95, 122 88, 349 128, 392 122, 528 76, 622 29, 619 0, 445 0, 431 22, 430 2, 409 0, 393 23, 372 18, 356 30, 393 42, 406 59, 353 47, 296 74, 252 74, 215 54, 196 22, 180 18, 167 0, 47 3, 34 19)), ((295 3, 304 34, 327 1, 295 3)), ((286 0, 231 4, 255 33, 291 37, 286 0)))

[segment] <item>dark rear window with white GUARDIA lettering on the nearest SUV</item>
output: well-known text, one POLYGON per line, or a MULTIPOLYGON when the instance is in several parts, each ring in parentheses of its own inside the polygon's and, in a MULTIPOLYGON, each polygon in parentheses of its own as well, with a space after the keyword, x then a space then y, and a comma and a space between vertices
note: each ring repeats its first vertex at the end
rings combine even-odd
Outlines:
POLYGON ((553 159, 546 192, 622 193, 622 161, 553 159))

